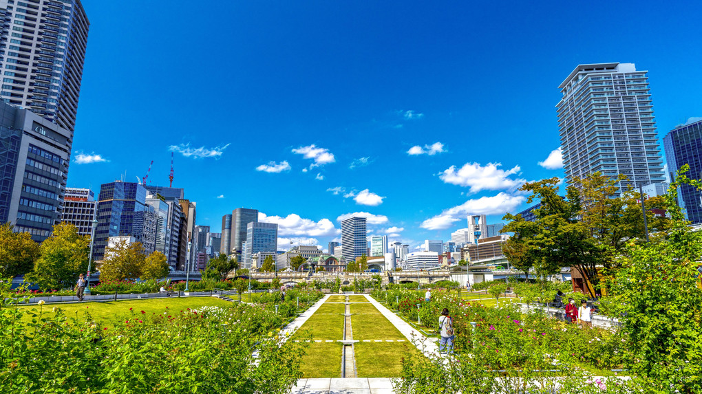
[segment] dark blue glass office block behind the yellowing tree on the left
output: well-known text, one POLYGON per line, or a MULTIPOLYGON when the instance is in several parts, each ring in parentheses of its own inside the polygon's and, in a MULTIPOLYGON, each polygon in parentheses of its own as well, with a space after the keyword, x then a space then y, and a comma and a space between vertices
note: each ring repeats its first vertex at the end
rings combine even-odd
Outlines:
POLYGON ((102 260, 108 238, 115 236, 133 236, 147 253, 153 252, 156 227, 157 213, 146 203, 144 186, 120 181, 100 185, 93 259, 102 260))

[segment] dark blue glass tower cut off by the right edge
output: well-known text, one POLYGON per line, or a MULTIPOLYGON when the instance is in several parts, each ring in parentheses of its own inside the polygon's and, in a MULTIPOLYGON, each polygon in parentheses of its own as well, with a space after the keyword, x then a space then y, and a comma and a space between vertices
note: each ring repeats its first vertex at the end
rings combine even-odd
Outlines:
MULTIPOLYGON (((687 177, 702 179, 702 118, 690 118, 687 123, 670 130, 663 138, 663 146, 671 180, 685 164, 690 165, 687 177)), ((702 191, 683 184, 678 189, 677 200, 690 222, 702 223, 702 191)))

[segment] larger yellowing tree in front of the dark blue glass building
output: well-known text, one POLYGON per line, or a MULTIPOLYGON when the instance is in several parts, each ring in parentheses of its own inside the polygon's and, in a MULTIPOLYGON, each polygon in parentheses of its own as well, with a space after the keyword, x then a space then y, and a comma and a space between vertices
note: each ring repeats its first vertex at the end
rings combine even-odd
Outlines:
POLYGON ((100 266, 100 280, 117 281, 139 278, 143 272, 146 256, 140 242, 129 243, 118 240, 113 247, 105 249, 105 262, 100 266))

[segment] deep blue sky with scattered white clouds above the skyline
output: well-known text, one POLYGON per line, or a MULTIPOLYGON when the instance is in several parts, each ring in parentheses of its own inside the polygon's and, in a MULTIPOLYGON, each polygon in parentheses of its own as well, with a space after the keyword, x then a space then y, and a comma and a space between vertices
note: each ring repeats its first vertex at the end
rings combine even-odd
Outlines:
POLYGON ((412 247, 468 213, 527 208, 562 177, 558 85, 581 63, 649 70, 661 138, 702 116, 698 2, 84 0, 91 21, 69 186, 149 183, 219 231, 257 208, 323 245, 338 218, 412 247), (550 161, 548 161, 550 162, 550 161), (556 161, 557 162, 557 161, 556 161))

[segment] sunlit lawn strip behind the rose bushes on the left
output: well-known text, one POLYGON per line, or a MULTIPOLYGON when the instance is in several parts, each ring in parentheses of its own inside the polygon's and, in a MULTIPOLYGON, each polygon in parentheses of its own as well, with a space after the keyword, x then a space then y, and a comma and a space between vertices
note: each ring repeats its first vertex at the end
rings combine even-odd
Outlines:
MULTIPOLYGON (((89 313, 91 320, 102 322, 103 325, 110 326, 110 322, 119 319, 128 313, 129 308, 132 308, 133 313, 141 314, 145 311, 147 314, 161 314, 166 311, 179 312, 187 308, 199 308, 201 306, 231 306, 232 303, 223 301, 216 297, 167 297, 155 299, 134 299, 128 301, 108 301, 108 302, 83 302, 76 304, 44 304, 42 311, 53 316, 52 309, 54 307, 61 308, 65 315, 77 316, 79 319, 86 318, 86 313, 89 313)), ((39 306, 18 306, 20 310, 36 309, 39 311, 39 306)), ((31 316, 24 315, 22 320, 29 322, 31 316)))

